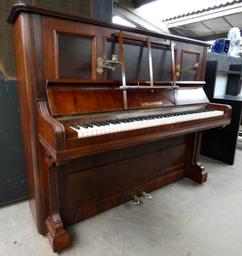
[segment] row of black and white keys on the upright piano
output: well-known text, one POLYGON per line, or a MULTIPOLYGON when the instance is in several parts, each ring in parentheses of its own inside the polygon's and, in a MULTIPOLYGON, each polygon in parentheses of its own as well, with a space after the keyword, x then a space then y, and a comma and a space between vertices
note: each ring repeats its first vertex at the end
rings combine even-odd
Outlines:
POLYGON ((79 123, 78 125, 70 125, 70 127, 78 132, 78 137, 91 137, 105 133, 129 131, 158 125, 169 125, 184 121, 205 119, 220 116, 222 114, 223 111, 203 109, 182 113, 165 113, 127 119, 109 119, 106 121, 79 123))

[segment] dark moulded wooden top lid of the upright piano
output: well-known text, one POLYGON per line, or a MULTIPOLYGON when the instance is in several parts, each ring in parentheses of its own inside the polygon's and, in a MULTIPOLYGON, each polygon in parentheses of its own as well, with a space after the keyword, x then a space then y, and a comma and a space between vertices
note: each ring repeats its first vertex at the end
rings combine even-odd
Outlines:
POLYGON ((147 36, 151 36, 151 37, 166 38, 166 39, 170 39, 170 40, 186 42, 189 44, 199 44, 199 45, 203 45, 203 46, 207 46, 207 47, 210 47, 210 45, 211 45, 204 41, 199 41, 199 40, 195 40, 195 39, 191 39, 191 38, 183 38, 183 37, 179 37, 179 36, 175 36, 175 35, 171 35, 171 34, 158 33, 158 32, 153 32, 153 31, 143 31, 139 28, 120 26, 120 25, 109 23, 104 20, 95 20, 95 19, 91 19, 91 18, 82 16, 82 15, 73 15, 70 13, 61 12, 59 10, 37 7, 37 6, 26 4, 26 3, 14 4, 14 6, 11 9, 11 12, 9 14, 7 22, 9 24, 14 24, 14 21, 18 18, 20 13, 23 13, 23 12, 24 13, 34 13, 34 14, 38 14, 38 15, 48 15, 48 16, 52 16, 55 18, 66 19, 66 20, 81 21, 81 22, 84 22, 87 24, 93 24, 93 25, 97 25, 97 26, 106 26, 106 27, 111 27, 111 28, 118 29, 118 30, 124 30, 126 32, 141 33, 141 34, 146 34, 147 36))

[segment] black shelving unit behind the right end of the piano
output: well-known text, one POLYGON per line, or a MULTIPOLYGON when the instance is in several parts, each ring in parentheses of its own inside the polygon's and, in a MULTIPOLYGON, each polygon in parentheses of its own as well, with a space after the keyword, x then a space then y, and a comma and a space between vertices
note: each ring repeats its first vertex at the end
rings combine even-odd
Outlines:
POLYGON ((228 104, 232 107, 231 124, 224 129, 205 131, 201 154, 233 165, 242 113, 242 96, 239 95, 242 64, 230 64, 228 70, 222 70, 221 67, 218 69, 218 66, 218 61, 207 61, 204 90, 210 102, 228 104))

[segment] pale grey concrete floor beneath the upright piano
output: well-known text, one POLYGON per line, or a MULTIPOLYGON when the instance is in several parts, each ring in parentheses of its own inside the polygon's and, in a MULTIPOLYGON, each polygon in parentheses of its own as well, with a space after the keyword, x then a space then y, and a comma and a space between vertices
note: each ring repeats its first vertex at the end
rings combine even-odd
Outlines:
MULTIPOLYGON (((228 166, 200 158, 209 172, 199 185, 185 178, 68 227, 60 255, 242 255, 242 149, 228 166)), ((0 208, 0 255, 55 255, 37 233, 27 201, 0 208)))

